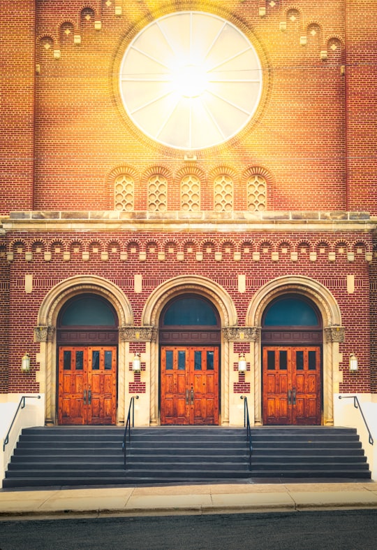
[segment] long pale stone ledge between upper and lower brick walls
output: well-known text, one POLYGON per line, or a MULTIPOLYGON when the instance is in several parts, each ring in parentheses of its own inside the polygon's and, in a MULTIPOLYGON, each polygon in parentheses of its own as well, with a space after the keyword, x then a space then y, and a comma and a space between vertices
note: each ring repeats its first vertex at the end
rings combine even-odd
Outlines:
POLYGON ((119 211, 23 211, 0 219, 4 230, 316 230, 372 231, 376 220, 367 212, 119 212, 119 211))

